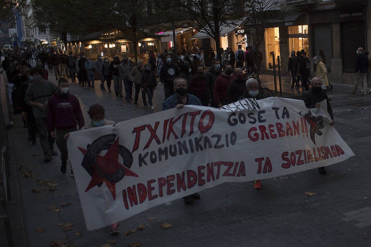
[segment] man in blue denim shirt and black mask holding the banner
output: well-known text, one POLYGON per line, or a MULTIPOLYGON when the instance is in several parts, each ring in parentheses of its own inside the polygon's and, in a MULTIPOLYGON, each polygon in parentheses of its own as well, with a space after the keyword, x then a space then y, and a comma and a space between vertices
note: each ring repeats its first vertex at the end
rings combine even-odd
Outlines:
MULTIPOLYGON (((162 103, 162 110, 169 110, 172 108, 182 109, 184 105, 202 106, 201 101, 194 95, 187 93, 187 81, 181 77, 174 80, 175 94, 170 96, 164 103, 162 103)), ((194 193, 183 197, 185 204, 192 204, 193 199, 200 199, 200 194, 194 193)))

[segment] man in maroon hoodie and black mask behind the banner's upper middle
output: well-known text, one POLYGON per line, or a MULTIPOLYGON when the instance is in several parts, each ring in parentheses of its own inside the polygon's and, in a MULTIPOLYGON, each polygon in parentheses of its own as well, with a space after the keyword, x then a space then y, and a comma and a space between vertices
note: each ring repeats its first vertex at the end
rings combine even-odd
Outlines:
POLYGON ((232 74, 232 66, 229 63, 225 63, 224 72, 217 77, 214 83, 214 102, 218 108, 228 103, 227 89, 234 79, 236 78, 232 74))

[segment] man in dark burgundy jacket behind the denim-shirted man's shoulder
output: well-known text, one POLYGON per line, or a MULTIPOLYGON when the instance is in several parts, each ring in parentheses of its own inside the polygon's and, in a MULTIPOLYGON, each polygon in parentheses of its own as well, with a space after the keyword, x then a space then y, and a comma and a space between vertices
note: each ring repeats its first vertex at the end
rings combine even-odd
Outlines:
POLYGON ((197 75, 192 77, 192 81, 189 85, 189 91, 201 101, 203 106, 208 106, 209 100, 207 98, 206 92, 206 77, 204 74, 204 66, 199 65, 197 71, 197 75))

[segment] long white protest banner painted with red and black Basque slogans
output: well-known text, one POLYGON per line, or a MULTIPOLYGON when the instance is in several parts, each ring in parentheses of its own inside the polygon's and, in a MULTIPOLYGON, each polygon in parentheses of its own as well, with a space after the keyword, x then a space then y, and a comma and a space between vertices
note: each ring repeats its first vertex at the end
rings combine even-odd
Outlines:
POLYGON ((73 132, 68 151, 86 227, 108 226, 224 182, 354 156, 330 121, 326 101, 309 110, 301 100, 270 97, 222 109, 185 106, 73 132))

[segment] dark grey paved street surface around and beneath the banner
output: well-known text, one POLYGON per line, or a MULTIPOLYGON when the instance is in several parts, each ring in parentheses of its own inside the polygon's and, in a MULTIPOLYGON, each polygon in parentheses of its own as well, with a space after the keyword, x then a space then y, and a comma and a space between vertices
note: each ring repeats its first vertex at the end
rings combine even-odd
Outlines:
MULTIPOLYGON (((53 73, 49 73, 49 78, 54 79, 53 73)), ((100 82, 95 83, 95 90, 70 84, 71 93, 81 102, 85 121, 89 121, 89 106, 95 103, 102 104, 106 118, 116 122, 153 113, 141 102, 134 106, 113 92, 101 91, 100 82)), ((112 239, 116 240, 113 246, 136 242, 141 246, 176 247, 370 246, 371 97, 350 96, 352 87, 334 86, 330 96, 335 128, 355 157, 328 166, 327 175, 309 170, 290 174, 288 179, 264 180, 262 190, 254 190, 253 181, 224 183, 202 191, 201 199, 191 206, 179 199, 130 217, 120 223, 121 233, 116 236, 109 234, 109 227, 86 230, 74 177, 60 173, 59 156, 49 164, 43 163, 40 144, 30 145, 27 129, 22 128, 17 116, 16 128, 9 130, 9 138, 17 168, 17 174, 12 175, 19 176, 25 225, 20 229, 13 226, 13 233, 25 230, 30 247, 50 246, 54 240, 91 247, 112 239), (307 197, 306 191, 316 195, 307 197), (154 220, 146 220, 149 217, 154 220), (63 231, 58 226, 68 222, 74 224, 71 230, 63 231), (173 227, 162 229, 164 222, 173 227), (124 234, 141 224, 145 224, 144 230, 124 234), (39 233, 36 228, 45 228, 45 232, 39 233)), ((155 111, 161 110, 163 99, 163 86, 158 86, 155 111)))

